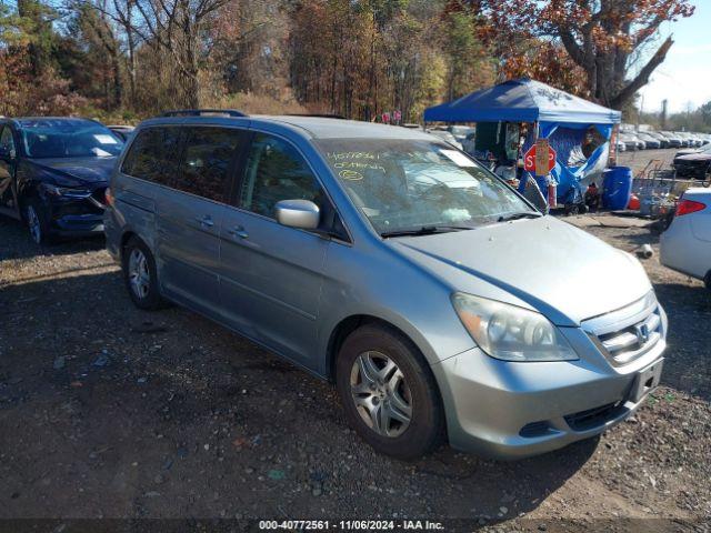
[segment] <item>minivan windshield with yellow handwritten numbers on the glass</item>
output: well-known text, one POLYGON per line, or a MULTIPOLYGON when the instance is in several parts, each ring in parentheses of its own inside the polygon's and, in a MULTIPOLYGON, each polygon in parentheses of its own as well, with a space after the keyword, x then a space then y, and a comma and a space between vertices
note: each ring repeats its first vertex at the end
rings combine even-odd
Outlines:
POLYGON ((321 139, 317 145, 381 234, 540 214, 491 172, 440 142, 321 139))

